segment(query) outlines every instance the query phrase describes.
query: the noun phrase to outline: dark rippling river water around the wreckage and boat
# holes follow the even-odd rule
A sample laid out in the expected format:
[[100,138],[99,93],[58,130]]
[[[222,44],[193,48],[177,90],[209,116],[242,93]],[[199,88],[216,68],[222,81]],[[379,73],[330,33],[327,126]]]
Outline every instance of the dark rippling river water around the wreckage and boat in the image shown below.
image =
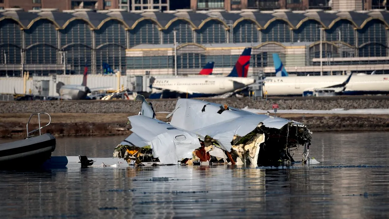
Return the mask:
[[[111,157],[124,137],[58,138],[53,155]],[[0,171],[0,218],[388,218],[388,141],[388,132],[317,132],[309,155],[321,163],[285,169]]]

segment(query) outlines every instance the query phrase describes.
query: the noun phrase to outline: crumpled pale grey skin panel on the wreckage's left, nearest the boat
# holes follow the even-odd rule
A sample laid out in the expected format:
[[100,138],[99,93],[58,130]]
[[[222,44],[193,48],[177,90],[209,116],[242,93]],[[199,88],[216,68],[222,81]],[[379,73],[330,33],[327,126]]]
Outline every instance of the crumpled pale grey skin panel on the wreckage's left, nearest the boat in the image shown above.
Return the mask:
[[177,164],[182,159],[192,158],[193,151],[201,147],[195,133],[173,127],[161,120],[144,115],[131,116],[128,120],[133,133],[119,145],[138,148],[149,146],[152,149],[152,156],[163,164]]

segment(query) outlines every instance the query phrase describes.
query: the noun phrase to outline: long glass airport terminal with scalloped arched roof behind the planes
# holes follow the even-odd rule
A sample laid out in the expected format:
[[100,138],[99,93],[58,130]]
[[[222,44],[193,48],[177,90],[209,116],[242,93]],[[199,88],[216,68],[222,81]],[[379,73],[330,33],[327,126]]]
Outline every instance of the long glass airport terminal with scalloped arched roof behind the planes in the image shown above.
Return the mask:
[[389,73],[383,9],[0,13],[0,76],[82,74],[86,65],[102,74],[104,63],[123,75],[187,75],[209,61],[226,75],[245,47],[252,47],[249,74],[274,75],[272,53],[289,73]]

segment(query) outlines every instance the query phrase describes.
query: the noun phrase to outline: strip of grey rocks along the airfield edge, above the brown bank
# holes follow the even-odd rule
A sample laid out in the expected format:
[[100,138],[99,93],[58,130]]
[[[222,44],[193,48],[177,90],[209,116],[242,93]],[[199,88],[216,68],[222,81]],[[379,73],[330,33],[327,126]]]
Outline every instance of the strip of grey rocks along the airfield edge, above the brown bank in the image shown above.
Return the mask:
[[[227,99],[205,99],[209,102],[228,104],[236,108],[248,106],[252,109],[272,109],[273,102],[279,105],[279,109],[307,109],[330,110],[344,109],[368,109],[389,108],[389,98],[307,98],[307,99],[268,99],[252,101],[248,97]],[[171,112],[175,108],[176,99],[150,100],[156,112]],[[0,113],[137,113],[140,109],[139,102],[135,101],[2,101]]]

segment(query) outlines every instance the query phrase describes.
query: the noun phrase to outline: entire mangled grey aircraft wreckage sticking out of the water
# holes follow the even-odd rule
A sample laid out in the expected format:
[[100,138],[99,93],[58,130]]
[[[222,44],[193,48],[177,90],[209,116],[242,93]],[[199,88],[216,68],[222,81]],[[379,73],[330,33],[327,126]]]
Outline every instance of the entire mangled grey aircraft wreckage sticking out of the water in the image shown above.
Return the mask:
[[128,117],[133,133],[114,150],[129,165],[260,166],[295,162],[291,148],[298,147],[304,147],[301,162],[309,161],[312,132],[300,122],[196,99],[179,99],[166,116],[171,121],[163,122],[142,95],[136,100],[142,105]]

